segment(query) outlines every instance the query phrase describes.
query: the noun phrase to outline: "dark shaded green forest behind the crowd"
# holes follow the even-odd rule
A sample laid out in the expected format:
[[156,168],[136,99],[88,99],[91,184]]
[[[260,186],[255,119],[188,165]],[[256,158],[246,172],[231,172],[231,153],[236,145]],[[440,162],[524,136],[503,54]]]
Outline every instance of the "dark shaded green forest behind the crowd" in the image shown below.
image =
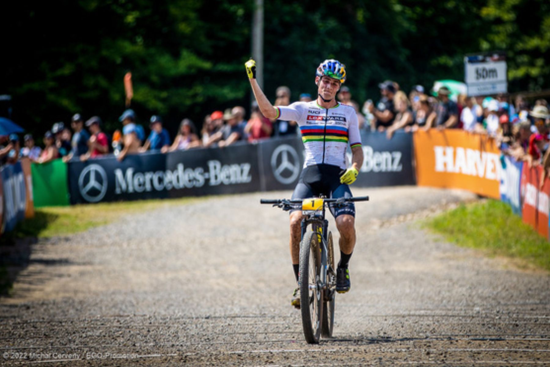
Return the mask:
[[[3,4],[0,95],[12,119],[43,134],[73,113],[120,128],[123,76],[131,107],[148,125],[160,114],[174,136],[215,109],[250,106],[244,62],[251,55],[254,1],[59,0]],[[464,79],[464,54],[506,51],[510,92],[548,87],[547,0],[373,0],[265,2],[264,86],[274,100],[315,94],[315,68],[346,64],[354,100],[379,97],[378,83],[431,87]],[[5,109],[5,106],[4,106]],[[249,112],[249,111],[247,111]]]

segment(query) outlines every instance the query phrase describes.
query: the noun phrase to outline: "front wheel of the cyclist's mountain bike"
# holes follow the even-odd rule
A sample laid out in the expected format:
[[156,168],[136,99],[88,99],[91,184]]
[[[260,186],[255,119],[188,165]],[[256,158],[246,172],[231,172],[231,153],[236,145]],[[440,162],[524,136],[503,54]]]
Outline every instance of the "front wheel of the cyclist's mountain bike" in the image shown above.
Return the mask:
[[319,234],[306,232],[300,244],[300,310],[306,341],[318,343],[321,336],[323,292],[320,287],[321,251]]

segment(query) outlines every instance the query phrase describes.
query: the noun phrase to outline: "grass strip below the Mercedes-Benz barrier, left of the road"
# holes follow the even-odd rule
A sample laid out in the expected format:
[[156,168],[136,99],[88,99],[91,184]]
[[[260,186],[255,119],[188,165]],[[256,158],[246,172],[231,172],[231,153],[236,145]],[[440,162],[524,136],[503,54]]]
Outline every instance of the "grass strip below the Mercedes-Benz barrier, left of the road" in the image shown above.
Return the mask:
[[68,235],[112,223],[130,213],[146,212],[162,206],[188,204],[204,198],[206,197],[43,207],[35,210],[34,218],[19,223],[12,233],[5,233],[3,237],[7,237],[9,241],[24,237]]

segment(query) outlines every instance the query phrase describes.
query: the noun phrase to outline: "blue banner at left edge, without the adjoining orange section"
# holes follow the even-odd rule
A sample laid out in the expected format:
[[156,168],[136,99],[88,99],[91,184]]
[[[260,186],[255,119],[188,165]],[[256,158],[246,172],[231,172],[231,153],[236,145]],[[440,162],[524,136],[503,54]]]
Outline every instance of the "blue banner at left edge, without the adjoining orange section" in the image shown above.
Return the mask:
[[0,169],[4,193],[4,232],[13,231],[17,223],[25,219],[26,185],[21,163],[6,165]]

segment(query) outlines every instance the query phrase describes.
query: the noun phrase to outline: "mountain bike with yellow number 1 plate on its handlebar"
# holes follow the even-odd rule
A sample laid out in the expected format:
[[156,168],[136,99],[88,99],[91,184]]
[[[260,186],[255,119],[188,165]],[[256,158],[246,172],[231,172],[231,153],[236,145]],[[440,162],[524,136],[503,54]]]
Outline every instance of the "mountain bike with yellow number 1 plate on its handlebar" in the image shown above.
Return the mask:
[[284,211],[301,210],[300,240],[300,310],[304,336],[310,344],[320,336],[330,338],[334,327],[336,267],[332,233],[328,231],[325,210],[344,206],[353,201],[367,201],[368,196],[356,198],[309,198],[300,200],[260,199],[260,204],[273,204]]

